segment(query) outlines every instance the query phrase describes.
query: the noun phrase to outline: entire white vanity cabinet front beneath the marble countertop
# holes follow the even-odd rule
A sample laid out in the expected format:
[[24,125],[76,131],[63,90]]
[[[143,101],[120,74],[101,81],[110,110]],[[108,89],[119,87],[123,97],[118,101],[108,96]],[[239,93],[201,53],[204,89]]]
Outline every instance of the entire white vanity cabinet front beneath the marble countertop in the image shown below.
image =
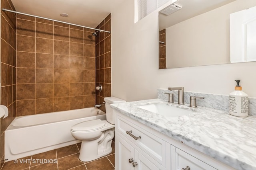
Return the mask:
[[122,113],[116,114],[115,170],[235,170]]

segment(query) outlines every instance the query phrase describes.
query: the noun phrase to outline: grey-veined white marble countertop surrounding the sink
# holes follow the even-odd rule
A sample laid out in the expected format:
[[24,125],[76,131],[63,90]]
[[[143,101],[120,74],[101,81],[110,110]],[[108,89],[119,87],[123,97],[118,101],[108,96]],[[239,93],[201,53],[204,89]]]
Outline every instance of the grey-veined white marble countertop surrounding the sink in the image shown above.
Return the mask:
[[[136,107],[155,102],[195,113],[164,117]],[[235,169],[256,169],[256,117],[235,117],[227,111],[200,106],[192,108],[160,99],[112,104],[111,107]]]

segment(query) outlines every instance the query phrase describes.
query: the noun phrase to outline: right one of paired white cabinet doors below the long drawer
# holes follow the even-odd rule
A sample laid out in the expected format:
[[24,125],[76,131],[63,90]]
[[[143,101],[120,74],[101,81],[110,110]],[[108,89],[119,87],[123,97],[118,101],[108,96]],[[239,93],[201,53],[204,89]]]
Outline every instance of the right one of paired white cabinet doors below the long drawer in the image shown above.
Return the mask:
[[150,160],[143,156],[140,152],[135,150],[135,170],[160,170]]

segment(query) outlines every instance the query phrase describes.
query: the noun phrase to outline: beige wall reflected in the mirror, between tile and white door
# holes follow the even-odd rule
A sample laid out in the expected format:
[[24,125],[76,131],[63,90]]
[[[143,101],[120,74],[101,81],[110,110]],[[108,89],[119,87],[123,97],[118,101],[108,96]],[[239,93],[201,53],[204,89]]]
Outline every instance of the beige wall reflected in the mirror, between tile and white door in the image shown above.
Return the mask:
[[227,6],[190,18],[166,29],[167,68],[230,62],[230,10],[224,8]]

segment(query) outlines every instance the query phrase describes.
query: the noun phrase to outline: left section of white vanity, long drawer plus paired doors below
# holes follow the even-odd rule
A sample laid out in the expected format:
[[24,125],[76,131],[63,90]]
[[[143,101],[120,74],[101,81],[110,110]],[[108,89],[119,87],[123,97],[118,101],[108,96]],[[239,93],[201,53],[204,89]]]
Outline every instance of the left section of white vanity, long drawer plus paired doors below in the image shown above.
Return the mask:
[[[137,140],[134,139],[136,137],[138,137]],[[117,115],[115,125],[116,170],[166,170],[164,167],[165,146],[166,142],[159,137],[135,125],[123,115]]]

